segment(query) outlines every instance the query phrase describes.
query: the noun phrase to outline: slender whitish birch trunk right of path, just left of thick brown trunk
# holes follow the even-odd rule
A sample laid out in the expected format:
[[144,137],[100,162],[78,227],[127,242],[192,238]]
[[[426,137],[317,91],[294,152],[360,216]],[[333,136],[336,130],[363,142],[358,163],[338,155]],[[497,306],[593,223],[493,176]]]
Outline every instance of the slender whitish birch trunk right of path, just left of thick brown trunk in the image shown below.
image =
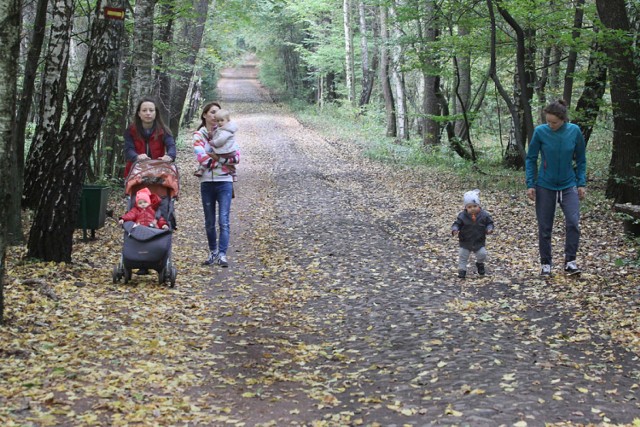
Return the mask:
[[397,22],[395,1],[389,6],[389,18],[393,22],[393,45],[391,47],[391,85],[394,91],[396,104],[396,127],[398,139],[409,139],[409,126],[407,119],[407,102],[404,92],[404,75],[402,67],[402,46],[399,43],[402,30]]

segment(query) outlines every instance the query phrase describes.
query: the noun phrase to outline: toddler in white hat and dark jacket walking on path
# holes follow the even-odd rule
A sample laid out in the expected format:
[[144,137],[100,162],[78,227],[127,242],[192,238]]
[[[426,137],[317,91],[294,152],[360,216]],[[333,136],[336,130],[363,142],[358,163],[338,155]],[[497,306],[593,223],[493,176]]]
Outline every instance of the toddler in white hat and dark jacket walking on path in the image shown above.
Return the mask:
[[467,277],[467,263],[469,255],[473,252],[476,256],[478,274],[486,273],[484,262],[487,259],[485,248],[487,234],[493,233],[493,219],[491,215],[480,206],[480,190],[471,190],[464,193],[464,210],[451,226],[451,235],[458,235],[460,250],[458,252],[458,277]]

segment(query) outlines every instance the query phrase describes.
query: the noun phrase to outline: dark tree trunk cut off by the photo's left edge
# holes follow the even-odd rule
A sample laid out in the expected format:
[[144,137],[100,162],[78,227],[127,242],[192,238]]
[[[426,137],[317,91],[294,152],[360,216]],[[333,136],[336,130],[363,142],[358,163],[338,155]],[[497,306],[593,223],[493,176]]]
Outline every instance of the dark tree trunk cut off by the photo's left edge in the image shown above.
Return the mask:
[[[0,324],[4,323],[4,276],[10,210],[20,199],[14,191],[16,147],[12,137],[20,56],[20,0],[0,0]],[[14,165],[14,166],[12,166]]]

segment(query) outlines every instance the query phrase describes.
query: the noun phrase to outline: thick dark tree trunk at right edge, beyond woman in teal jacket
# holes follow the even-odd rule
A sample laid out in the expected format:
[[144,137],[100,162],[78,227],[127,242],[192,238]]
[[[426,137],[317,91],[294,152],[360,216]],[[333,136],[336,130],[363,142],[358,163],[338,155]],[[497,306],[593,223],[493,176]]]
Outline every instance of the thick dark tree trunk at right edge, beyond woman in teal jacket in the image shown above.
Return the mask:
[[609,163],[606,196],[615,203],[640,204],[640,121],[637,120],[638,66],[629,54],[629,18],[624,0],[596,0],[602,23],[616,34],[609,36],[606,48],[610,66],[613,106],[613,151]]

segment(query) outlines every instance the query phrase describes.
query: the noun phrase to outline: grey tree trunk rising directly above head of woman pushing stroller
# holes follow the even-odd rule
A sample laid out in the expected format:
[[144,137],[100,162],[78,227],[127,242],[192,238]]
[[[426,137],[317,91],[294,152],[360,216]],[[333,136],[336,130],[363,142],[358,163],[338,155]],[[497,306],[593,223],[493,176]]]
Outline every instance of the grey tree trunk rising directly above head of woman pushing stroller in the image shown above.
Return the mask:
[[155,0],[137,0],[133,28],[130,115],[140,99],[153,94],[153,15]]

